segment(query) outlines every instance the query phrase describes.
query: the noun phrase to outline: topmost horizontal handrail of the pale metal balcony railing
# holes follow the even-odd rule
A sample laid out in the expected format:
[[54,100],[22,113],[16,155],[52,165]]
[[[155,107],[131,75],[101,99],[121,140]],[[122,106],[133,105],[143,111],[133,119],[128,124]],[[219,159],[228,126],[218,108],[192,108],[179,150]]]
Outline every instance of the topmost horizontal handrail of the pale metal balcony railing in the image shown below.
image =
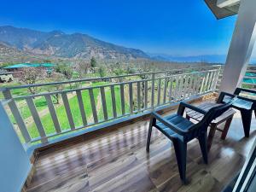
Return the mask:
[[99,78],[73,79],[73,80],[60,81],[60,82],[50,82],[50,83],[44,83],[44,84],[23,84],[23,85],[17,85],[17,86],[1,87],[0,91],[25,89],[25,88],[29,88],[29,87],[49,86],[49,85],[56,85],[56,84],[73,84],[73,83],[104,80],[104,79],[120,79],[120,78],[125,78],[125,77],[139,76],[139,75],[146,75],[146,74],[170,73],[170,72],[173,73],[173,72],[180,72],[180,71],[183,71],[183,70],[193,70],[193,69],[201,69],[201,68],[207,68],[207,67],[209,67],[209,68],[221,67],[221,65],[212,65],[212,66],[205,66],[205,67],[190,67],[190,68],[187,67],[187,68],[181,68],[181,69],[172,69],[172,70],[148,72],[148,73],[134,73],[134,74],[130,73],[130,74],[119,75],[119,76],[108,76],[108,77],[99,77]]

